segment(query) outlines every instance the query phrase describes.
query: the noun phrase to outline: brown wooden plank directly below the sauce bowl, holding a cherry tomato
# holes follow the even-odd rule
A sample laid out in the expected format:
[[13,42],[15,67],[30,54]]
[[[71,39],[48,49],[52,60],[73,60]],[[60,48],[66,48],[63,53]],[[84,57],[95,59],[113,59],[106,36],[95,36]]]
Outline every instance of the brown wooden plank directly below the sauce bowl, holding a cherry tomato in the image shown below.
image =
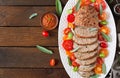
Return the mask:
[[42,36],[42,27],[0,27],[0,46],[58,46],[57,28],[48,38]]

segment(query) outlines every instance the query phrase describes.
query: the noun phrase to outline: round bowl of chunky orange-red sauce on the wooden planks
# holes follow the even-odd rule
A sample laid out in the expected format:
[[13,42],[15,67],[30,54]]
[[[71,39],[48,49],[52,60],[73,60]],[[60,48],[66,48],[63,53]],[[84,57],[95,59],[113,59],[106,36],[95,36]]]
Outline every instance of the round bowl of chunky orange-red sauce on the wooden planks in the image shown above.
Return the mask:
[[58,25],[58,17],[52,12],[47,12],[41,17],[40,23],[44,29],[53,30]]

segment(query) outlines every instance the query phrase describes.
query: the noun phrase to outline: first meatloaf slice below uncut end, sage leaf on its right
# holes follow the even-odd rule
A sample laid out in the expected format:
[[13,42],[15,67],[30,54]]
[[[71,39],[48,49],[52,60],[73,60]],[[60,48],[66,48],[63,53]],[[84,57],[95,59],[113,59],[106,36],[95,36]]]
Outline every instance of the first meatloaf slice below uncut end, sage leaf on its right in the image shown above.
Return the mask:
[[[93,30],[94,29],[94,30]],[[74,29],[75,35],[81,38],[91,38],[98,35],[98,28],[80,26]]]

